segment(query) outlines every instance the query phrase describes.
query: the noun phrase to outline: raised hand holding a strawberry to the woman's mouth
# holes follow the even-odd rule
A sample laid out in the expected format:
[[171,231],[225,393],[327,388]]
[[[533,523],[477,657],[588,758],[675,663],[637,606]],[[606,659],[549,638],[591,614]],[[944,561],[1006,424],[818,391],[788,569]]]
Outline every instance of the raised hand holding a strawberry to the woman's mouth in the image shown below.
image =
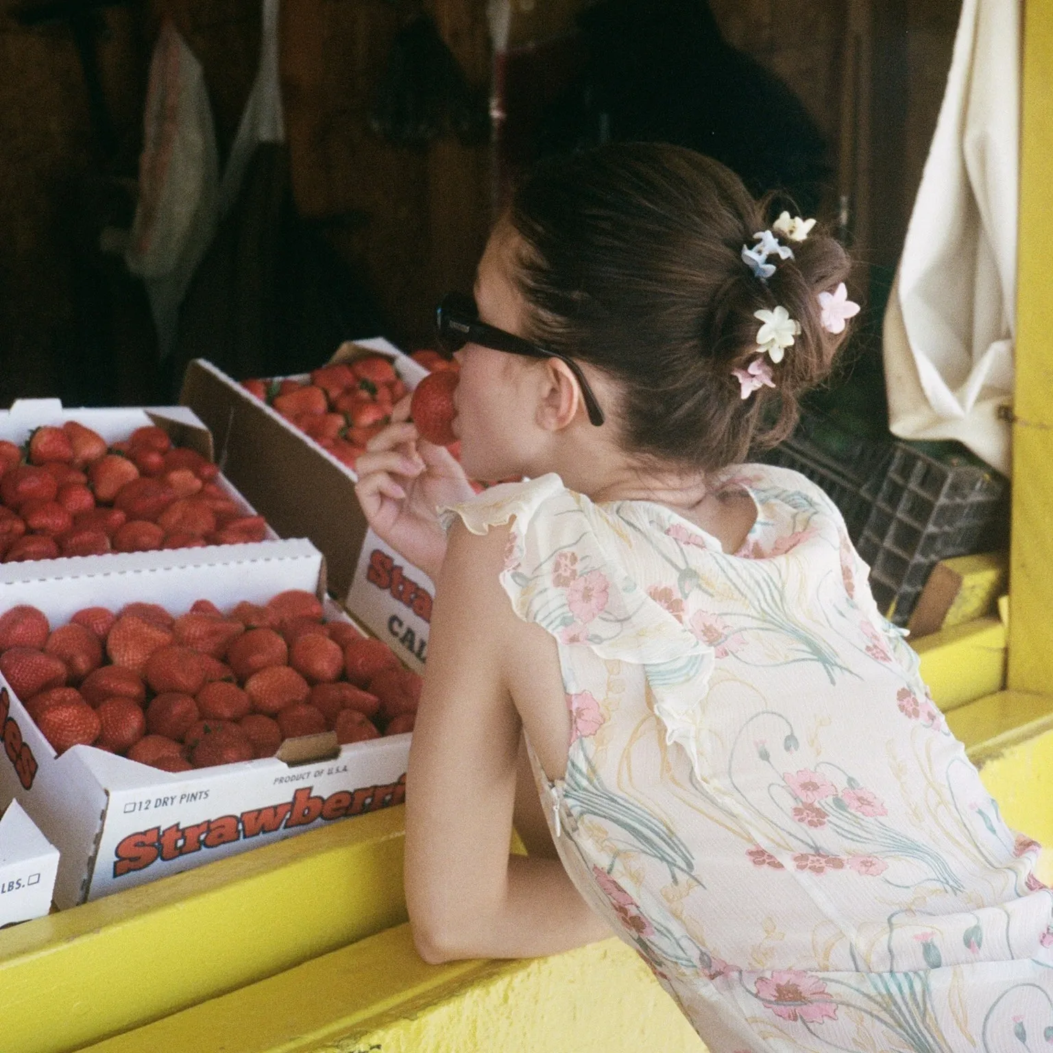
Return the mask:
[[408,396],[358,458],[355,493],[373,530],[435,580],[446,554],[436,509],[466,501],[475,491],[444,446],[420,438],[409,414]]

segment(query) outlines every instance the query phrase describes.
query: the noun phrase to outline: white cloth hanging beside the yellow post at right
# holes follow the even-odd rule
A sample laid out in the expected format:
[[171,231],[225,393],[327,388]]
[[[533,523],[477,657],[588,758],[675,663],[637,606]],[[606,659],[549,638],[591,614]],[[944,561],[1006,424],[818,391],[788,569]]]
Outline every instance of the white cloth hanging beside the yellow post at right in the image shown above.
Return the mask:
[[889,421],[1006,475],[1013,395],[1020,0],[963,0],[951,72],[885,313]]

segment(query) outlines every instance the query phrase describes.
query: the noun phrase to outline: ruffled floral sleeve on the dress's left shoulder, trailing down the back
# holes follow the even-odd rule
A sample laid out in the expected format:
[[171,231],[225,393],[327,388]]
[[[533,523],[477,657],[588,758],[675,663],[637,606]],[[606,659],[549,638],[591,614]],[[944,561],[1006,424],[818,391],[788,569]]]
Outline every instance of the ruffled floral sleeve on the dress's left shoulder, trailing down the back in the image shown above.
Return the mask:
[[679,742],[699,774],[701,702],[715,658],[663,591],[643,584],[659,579],[668,539],[633,531],[555,474],[440,510],[448,530],[457,518],[473,534],[514,520],[500,581],[517,616],[549,632],[561,652],[588,648],[641,665],[667,742]]

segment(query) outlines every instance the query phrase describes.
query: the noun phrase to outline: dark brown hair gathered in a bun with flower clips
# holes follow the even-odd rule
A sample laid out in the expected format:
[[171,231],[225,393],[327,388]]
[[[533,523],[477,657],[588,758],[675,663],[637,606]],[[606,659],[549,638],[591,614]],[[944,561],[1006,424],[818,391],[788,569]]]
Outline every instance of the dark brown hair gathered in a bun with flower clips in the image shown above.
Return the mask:
[[[621,381],[625,449],[706,471],[743,460],[793,430],[798,398],[829,373],[843,334],[822,327],[817,297],[848,277],[848,255],[818,226],[780,237],[794,259],[771,257],[761,281],[741,251],[771,204],[719,162],[658,143],[551,159],[517,188],[523,335]],[[732,370],[759,354],[754,312],[777,304],[801,332],[769,363],[775,389],[742,399]]]

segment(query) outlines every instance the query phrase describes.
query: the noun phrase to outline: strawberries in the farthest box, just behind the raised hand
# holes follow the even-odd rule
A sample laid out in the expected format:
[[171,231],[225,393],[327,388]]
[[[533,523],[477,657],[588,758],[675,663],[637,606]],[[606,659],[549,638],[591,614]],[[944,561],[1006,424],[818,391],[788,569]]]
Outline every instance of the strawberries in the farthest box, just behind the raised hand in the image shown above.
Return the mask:
[[[434,372],[456,372],[434,351],[415,351],[415,358]],[[323,365],[299,380],[244,380],[242,386],[266,402],[292,424],[355,468],[365,444],[391,421],[392,409],[406,394],[391,359],[363,355],[351,362]]]

